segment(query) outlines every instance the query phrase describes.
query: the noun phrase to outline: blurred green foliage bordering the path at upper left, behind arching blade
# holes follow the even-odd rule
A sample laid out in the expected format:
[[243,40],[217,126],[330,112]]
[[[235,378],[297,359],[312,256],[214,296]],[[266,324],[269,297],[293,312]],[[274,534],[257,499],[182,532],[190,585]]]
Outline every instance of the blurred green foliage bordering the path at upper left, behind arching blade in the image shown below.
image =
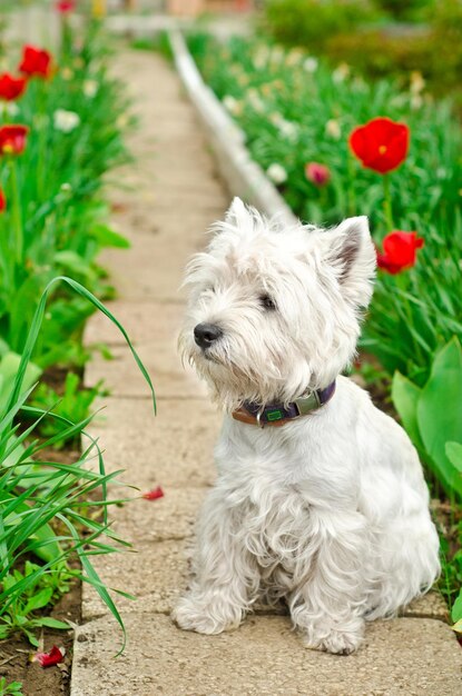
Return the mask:
[[[30,130],[26,150],[0,158],[0,338],[18,352],[38,298],[56,275],[69,274],[100,297],[110,297],[97,255],[128,242],[106,226],[102,177],[127,161],[121,139],[126,102],[106,70],[107,51],[90,27],[79,49],[56,56],[56,74],[33,78],[9,112]],[[12,69],[18,54],[9,54]],[[76,125],[63,130],[62,112]],[[110,115],[110,117],[109,117]],[[41,367],[82,365],[81,331],[92,308],[65,289],[51,298],[35,361]],[[1,351],[1,348],[0,348]],[[1,352],[0,352],[1,355]]]

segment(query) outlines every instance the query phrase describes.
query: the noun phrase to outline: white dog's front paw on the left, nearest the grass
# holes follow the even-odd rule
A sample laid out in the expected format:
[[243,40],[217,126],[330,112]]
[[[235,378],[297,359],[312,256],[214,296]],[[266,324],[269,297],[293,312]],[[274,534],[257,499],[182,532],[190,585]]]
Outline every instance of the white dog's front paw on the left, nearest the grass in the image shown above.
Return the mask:
[[216,635],[224,630],[233,630],[240,624],[242,610],[226,606],[216,598],[187,595],[181,597],[171,613],[173,620],[184,630],[196,630],[207,635]]

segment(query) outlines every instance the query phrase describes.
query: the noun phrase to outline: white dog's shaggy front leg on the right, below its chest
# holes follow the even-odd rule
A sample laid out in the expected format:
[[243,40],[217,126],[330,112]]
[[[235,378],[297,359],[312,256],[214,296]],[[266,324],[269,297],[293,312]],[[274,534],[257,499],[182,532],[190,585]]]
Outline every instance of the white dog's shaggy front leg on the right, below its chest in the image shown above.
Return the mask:
[[346,655],[364,636],[365,520],[355,511],[312,509],[311,525],[315,544],[289,596],[292,619],[307,647]]

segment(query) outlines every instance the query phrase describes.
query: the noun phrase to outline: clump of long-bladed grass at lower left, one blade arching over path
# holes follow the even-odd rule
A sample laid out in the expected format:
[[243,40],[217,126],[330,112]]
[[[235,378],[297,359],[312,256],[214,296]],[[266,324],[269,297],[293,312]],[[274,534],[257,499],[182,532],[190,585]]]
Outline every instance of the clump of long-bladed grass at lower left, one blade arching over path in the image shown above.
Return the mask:
[[[38,617],[36,613],[51,605],[73,577],[95,587],[125,637],[124,623],[114,599],[91,563],[95,554],[114,553],[128,546],[111,531],[107,515],[108,505],[120,503],[109,503],[106,497],[108,483],[115,483],[120,471],[106,473],[102,453],[91,437],[73,464],[38,461],[40,451],[62,438],[80,435],[88,438],[86,428],[91,416],[72,422],[53,411],[26,406],[35,379],[28,372],[30,358],[43,321],[47,296],[58,282],[67,284],[117,326],[154,399],[149,375],[116,317],[80,284],[70,278],[55,278],[40,298],[18,370],[4,399],[6,407],[0,414],[0,638],[19,630],[35,645],[38,644],[37,632],[43,626],[68,627],[48,616]],[[22,431],[18,429],[21,415],[35,419]],[[59,420],[66,427],[46,440],[35,438],[37,426],[47,419]],[[98,494],[97,500],[95,493]],[[101,510],[100,519],[95,516],[95,508]],[[40,558],[42,564],[28,563],[30,555]],[[69,570],[67,563],[71,557],[78,557],[81,571]],[[20,570],[23,560],[26,565]]]

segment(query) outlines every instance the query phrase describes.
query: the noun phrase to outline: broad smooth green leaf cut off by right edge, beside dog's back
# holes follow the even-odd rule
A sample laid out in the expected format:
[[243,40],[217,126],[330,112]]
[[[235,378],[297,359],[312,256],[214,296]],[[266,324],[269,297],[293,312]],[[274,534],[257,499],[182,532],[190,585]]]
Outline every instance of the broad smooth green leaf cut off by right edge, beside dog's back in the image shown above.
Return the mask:
[[455,337],[434,358],[417,402],[417,424],[441,483],[462,498],[462,476],[446,455],[446,443],[462,432],[462,349]]

